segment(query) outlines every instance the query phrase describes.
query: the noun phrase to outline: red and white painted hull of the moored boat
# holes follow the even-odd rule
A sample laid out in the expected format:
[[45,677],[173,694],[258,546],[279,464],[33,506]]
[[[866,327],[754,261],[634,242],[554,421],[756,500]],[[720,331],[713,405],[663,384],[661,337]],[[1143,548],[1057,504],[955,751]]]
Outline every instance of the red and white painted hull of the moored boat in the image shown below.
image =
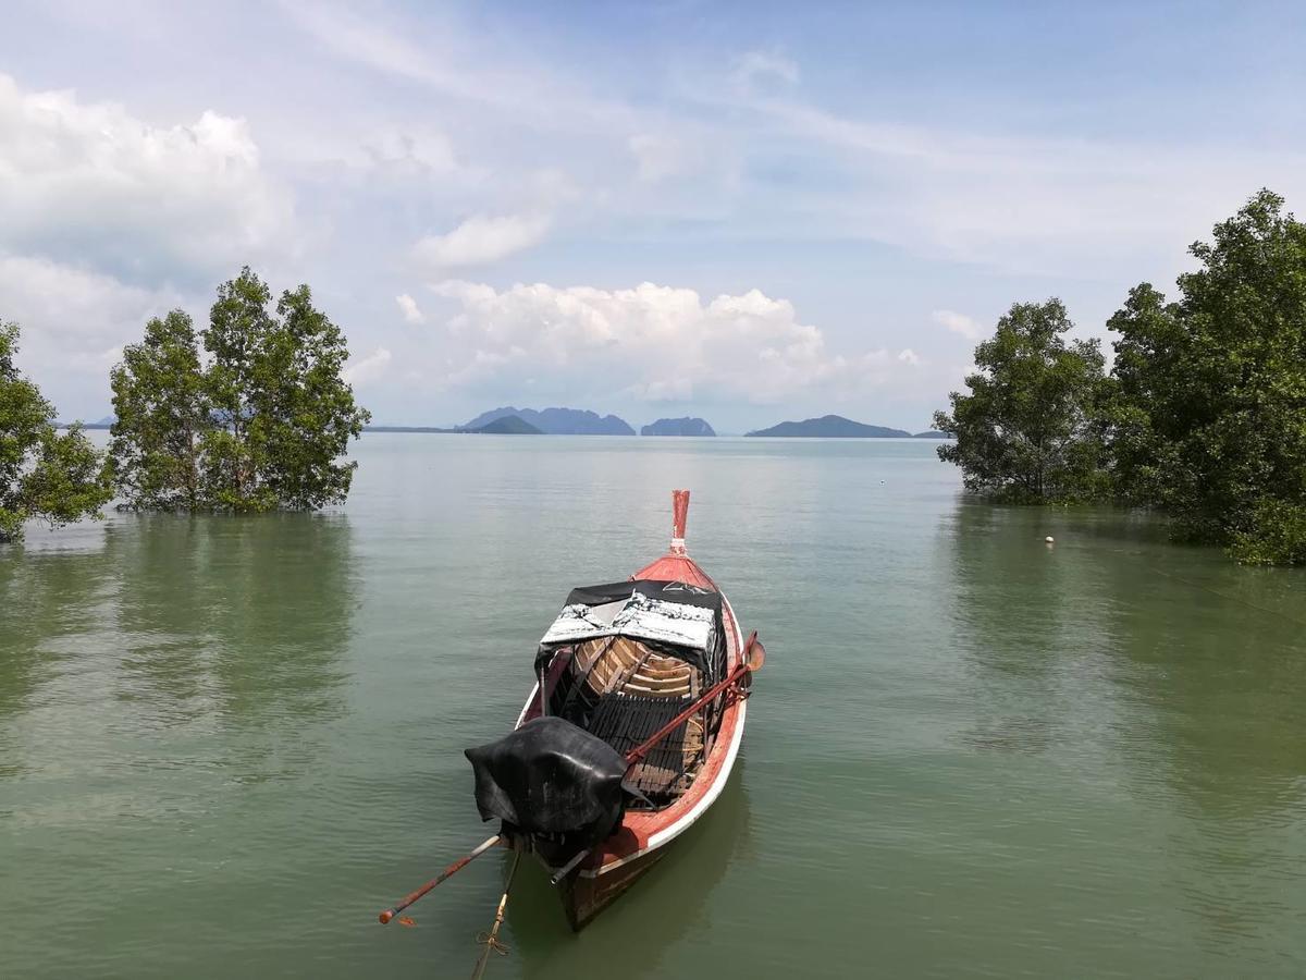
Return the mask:
[[[683,528],[683,523],[680,524]],[[683,536],[683,531],[682,531]],[[674,546],[673,546],[674,547]],[[720,592],[716,583],[688,555],[673,550],[641,568],[632,579],[684,581]],[[722,619],[726,631],[726,670],[733,670],[743,656],[743,636],[730,602],[722,596]],[[562,669],[562,666],[559,668]],[[549,682],[556,676],[550,674]],[[538,686],[532,691],[517,724],[539,715]],[[616,831],[596,847],[573,872],[563,887],[567,920],[572,929],[581,929],[614,899],[635,883],[666,853],[666,847],[707,813],[730,777],[739,743],[743,738],[746,700],[734,699],[722,715],[721,728],[708,750],[703,770],[690,789],[671,806],[657,811],[627,813]]]

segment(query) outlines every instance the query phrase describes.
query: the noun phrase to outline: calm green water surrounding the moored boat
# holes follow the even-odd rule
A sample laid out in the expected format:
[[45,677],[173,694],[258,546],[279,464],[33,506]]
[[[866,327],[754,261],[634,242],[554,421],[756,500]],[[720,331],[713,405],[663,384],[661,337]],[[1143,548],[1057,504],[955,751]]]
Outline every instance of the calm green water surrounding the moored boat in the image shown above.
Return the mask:
[[[491,977],[1302,976],[1306,575],[965,502],[913,442],[371,435],[316,516],[0,550],[0,972],[460,976],[461,749],[572,584],[690,547],[767,640],[709,817]],[[1045,534],[1057,544],[1047,547]]]

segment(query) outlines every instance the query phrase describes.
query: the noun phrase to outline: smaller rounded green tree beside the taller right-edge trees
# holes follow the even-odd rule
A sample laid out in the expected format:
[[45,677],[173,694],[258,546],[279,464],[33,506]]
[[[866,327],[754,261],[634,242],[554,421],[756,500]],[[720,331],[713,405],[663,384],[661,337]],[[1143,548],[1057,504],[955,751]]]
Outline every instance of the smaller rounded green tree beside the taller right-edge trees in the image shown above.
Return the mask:
[[939,459],[961,466],[968,490],[1000,500],[1083,500],[1106,483],[1094,406],[1104,389],[1096,340],[1071,341],[1059,299],[1016,303],[993,340],[976,348],[969,395],[934,426],[956,439]]

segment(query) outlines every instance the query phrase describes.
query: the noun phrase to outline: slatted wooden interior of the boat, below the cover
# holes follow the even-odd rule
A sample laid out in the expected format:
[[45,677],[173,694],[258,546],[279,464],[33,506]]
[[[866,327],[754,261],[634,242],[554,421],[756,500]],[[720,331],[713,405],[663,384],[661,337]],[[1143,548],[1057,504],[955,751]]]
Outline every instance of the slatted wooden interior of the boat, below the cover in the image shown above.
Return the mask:
[[[701,653],[628,636],[580,640],[556,648],[554,657],[559,656],[564,668],[549,694],[549,713],[580,725],[623,755],[707,687]],[[627,784],[644,796],[631,809],[662,809],[684,794],[703,768],[721,710],[718,700],[690,716],[631,770]]]

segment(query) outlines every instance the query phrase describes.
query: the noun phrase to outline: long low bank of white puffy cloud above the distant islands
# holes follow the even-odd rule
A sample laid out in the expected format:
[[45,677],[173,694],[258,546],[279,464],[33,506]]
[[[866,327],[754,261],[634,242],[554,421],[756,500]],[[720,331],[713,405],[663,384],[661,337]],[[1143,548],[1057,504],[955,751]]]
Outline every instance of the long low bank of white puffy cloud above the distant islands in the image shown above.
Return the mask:
[[457,350],[444,378],[451,387],[774,402],[818,389],[857,395],[902,370],[883,349],[828,350],[789,301],[759,290],[710,301],[650,282],[496,290],[445,281],[432,290],[456,304],[447,323]]

